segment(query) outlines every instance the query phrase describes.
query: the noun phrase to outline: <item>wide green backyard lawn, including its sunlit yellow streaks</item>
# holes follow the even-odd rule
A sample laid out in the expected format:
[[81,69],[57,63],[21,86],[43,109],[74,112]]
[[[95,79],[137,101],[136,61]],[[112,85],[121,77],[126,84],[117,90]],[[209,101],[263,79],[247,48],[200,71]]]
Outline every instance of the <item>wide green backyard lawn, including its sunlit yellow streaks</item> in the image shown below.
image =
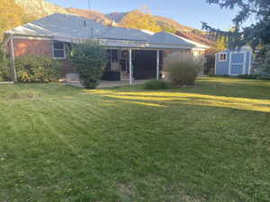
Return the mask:
[[270,82],[0,85],[0,201],[270,201]]

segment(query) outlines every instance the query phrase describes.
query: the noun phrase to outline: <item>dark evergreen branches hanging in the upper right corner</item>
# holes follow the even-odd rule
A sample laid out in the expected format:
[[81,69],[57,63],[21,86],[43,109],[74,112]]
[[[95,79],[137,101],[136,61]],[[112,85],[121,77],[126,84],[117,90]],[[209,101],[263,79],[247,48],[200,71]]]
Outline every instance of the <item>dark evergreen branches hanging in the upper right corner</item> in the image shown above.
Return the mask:
[[[202,22],[202,28],[215,32],[217,35],[228,37],[231,46],[243,46],[247,43],[253,48],[270,44],[270,1],[269,0],[207,0],[209,4],[219,4],[221,8],[239,8],[234,18],[234,31],[220,31],[211,28],[206,22]],[[257,17],[257,22],[243,27],[244,22],[252,16]]]

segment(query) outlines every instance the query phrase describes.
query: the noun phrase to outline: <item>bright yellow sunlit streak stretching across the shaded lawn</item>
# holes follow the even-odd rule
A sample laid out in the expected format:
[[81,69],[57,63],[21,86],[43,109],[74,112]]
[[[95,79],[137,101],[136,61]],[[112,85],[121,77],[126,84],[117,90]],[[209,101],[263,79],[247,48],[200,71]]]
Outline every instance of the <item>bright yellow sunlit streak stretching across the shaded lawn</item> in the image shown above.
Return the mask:
[[237,98],[186,92],[117,92],[113,90],[93,90],[86,93],[104,98],[116,99],[130,104],[150,107],[169,107],[176,104],[254,110],[270,112],[269,100]]

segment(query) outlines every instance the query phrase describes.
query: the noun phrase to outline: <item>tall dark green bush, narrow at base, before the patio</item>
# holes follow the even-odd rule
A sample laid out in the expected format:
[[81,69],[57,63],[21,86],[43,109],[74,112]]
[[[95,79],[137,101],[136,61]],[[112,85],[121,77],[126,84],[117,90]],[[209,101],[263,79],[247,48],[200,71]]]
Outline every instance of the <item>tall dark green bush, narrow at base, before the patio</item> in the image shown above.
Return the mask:
[[69,60],[77,67],[80,81],[85,88],[94,89],[103,76],[108,56],[106,50],[97,42],[87,41],[73,45]]

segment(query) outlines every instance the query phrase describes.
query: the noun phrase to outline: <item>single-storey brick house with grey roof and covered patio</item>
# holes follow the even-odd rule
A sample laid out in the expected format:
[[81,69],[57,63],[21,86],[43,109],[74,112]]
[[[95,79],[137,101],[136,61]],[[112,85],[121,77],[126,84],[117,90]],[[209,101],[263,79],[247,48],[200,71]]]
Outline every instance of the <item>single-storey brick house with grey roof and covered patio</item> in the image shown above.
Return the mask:
[[[109,64],[105,80],[159,78],[164,59],[191,52],[194,57],[209,48],[165,31],[150,31],[105,26],[83,17],[52,14],[35,22],[6,31],[4,45],[14,61],[26,55],[53,57],[63,61],[63,78],[76,80],[76,68],[67,61],[73,43],[97,40],[107,49]],[[15,67],[14,67],[15,69]],[[14,79],[15,79],[14,70]]]

